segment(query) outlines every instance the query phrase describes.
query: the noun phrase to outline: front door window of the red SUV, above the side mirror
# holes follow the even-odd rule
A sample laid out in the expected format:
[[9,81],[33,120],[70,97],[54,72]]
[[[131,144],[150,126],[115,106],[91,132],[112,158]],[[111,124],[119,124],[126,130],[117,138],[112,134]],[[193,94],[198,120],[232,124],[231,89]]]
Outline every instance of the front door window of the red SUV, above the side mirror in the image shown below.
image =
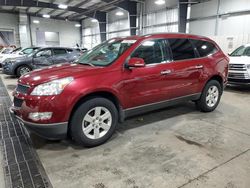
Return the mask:
[[146,64],[166,61],[164,40],[145,41],[131,55],[144,59]]

